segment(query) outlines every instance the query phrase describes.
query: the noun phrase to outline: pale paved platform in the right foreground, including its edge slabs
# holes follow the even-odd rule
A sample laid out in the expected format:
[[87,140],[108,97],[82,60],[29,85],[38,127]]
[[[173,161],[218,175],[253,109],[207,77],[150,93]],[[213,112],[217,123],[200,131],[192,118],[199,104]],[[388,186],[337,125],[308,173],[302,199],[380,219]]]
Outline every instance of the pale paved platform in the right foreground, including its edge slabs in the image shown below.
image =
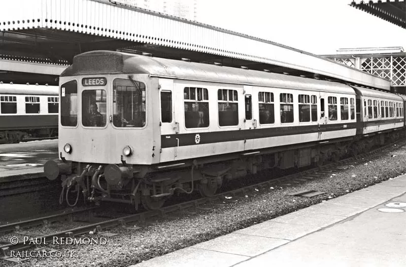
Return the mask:
[[131,267],[406,266],[406,175]]

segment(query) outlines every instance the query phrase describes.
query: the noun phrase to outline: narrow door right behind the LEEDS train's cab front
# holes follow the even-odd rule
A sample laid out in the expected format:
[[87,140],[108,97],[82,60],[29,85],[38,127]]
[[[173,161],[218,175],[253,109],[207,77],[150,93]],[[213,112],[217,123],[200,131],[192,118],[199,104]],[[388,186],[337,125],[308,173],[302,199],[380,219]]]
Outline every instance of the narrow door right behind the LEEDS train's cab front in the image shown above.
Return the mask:
[[[172,80],[159,80],[159,102],[160,102],[160,126],[161,126],[161,162],[173,161],[176,158],[178,147],[176,146],[176,134],[179,132],[179,124],[175,120],[173,92],[174,83]],[[177,128],[178,127],[178,128]],[[178,129],[178,130],[177,130]]]

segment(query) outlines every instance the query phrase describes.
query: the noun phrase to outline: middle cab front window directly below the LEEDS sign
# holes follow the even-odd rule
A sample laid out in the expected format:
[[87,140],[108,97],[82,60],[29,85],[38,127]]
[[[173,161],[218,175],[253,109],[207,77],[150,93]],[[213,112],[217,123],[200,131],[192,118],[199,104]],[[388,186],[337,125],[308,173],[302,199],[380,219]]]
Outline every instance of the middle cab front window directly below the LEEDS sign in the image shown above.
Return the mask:
[[82,125],[106,126],[106,91],[84,90],[82,92]]

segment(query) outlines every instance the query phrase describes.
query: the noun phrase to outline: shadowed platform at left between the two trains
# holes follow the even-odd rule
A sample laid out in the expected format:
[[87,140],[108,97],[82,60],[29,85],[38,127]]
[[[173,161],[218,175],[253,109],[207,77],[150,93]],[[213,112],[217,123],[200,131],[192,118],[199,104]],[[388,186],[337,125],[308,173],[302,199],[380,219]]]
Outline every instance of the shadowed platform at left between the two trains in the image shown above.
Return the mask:
[[44,177],[44,164],[58,159],[58,140],[0,144],[0,183]]

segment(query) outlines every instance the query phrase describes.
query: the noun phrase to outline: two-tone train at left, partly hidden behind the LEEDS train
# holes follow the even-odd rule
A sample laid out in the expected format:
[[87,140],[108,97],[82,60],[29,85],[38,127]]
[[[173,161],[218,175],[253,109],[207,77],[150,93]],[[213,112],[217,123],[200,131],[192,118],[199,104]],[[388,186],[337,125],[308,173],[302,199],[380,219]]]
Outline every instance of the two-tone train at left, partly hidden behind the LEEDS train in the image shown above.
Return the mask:
[[0,83],[0,143],[58,135],[57,86]]

